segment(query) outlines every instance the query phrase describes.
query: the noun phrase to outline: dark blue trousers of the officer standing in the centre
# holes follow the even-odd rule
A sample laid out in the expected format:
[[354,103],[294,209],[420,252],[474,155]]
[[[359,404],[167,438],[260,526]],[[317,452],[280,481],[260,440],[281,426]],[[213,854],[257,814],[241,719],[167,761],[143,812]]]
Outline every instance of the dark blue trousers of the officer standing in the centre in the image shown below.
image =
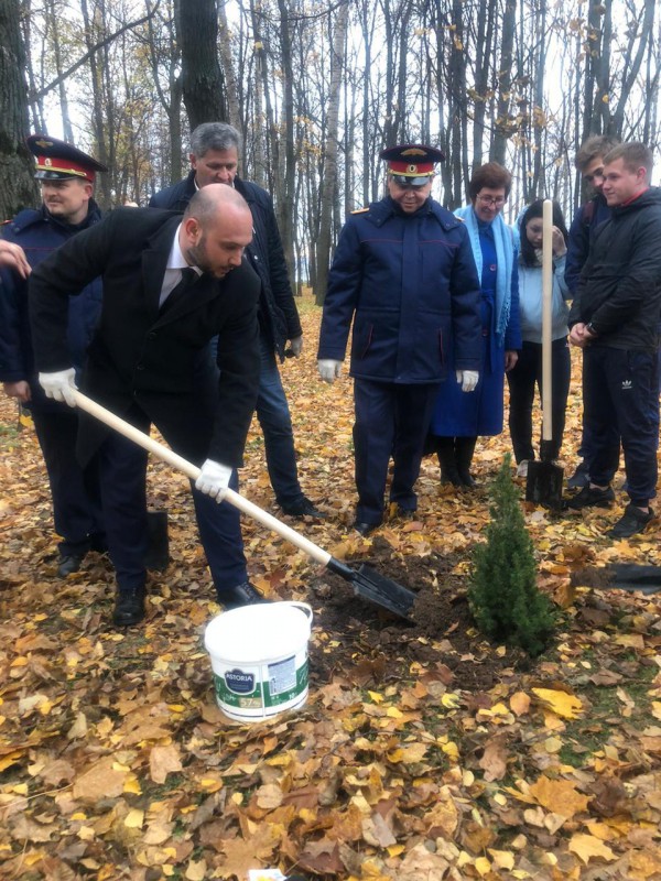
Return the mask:
[[413,486],[438,394],[437,383],[421,385],[354,381],[354,456],[358,505],[356,520],[381,523],[390,457],[394,461],[390,501],[415,511]]

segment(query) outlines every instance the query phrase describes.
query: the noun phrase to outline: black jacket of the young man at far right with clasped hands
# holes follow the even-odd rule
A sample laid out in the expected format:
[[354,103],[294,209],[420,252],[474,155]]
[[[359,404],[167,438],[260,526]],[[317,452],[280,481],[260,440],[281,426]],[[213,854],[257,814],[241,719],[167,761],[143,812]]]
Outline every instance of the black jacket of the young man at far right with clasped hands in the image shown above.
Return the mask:
[[594,235],[568,325],[592,322],[590,346],[657,351],[661,319],[661,189],[611,209]]

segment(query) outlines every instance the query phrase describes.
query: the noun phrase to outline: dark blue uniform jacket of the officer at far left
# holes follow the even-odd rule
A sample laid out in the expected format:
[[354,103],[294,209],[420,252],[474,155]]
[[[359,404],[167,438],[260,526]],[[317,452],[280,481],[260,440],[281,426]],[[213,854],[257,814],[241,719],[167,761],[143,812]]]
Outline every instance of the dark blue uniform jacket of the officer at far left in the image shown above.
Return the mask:
[[[63,224],[42,205],[18,214],[2,228],[2,238],[20,244],[34,269],[56,248],[83,229],[101,219],[94,200],[89,202],[87,218],[77,226]],[[76,292],[77,293],[77,292]],[[101,314],[101,281],[95,279],[80,296],[69,297],[68,347],[72,362],[80,371],[85,352]],[[0,270],[0,382],[25,380],[32,390],[31,406],[58,410],[62,404],[50,401],[37,382],[32,351],[32,335],[28,315],[28,281],[9,269]]]

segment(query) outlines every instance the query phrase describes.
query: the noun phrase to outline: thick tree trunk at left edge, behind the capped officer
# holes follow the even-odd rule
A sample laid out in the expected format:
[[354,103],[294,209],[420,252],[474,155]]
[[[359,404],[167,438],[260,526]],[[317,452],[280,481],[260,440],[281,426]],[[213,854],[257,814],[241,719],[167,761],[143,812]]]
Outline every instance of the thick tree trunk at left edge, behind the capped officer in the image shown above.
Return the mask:
[[39,203],[34,162],[25,146],[30,133],[21,3],[0,4],[0,220]]

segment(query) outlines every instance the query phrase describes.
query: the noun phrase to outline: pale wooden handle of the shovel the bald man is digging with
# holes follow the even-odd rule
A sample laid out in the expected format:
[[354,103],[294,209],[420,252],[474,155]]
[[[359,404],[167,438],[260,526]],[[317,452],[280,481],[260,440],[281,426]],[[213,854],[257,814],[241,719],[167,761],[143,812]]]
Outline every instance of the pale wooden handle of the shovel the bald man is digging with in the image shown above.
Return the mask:
[[[128,422],[120,418],[111,411],[106,410],[105,406],[97,404],[96,401],[93,401],[91,398],[87,398],[87,395],[83,394],[78,390],[74,392],[74,396],[76,399],[76,404],[80,407],[80,410],[89,413],[91,416],[105,423],[110,428],[113,428],[116,432],[119,432],[119,434],[123,435],[124,437],[128,437],[129,440],[133,440],[136,444],[138,444],[138,446],[147,449],[148,453],[152,453],[156,458],[167,463],[167,465],[172,465],[173,468],[182,471],[182,474],[186,475],[186,477],[189,477],[191,480],[196,480],[199,477],[199,468],[184,459],[183,456],[174,453],[172,449],[170,449],[170,447],[166,447],[163,444],[160,444],[158,440],[154,440],[153,437],[150,437],[144,432],[136,428],[134,425],[130,425]],[[273,530],[273,532],[278,533],[278,535],[280,535],[282,539],[291,542],[301,551],[308,554],[308,556],[311,556],[317,563],[321,563],[323,566],[326,566],[328,561],[332,558],[327,551],[324,551],[308,539],[305,539],[305,536],[301,535],[295,530],[292,530],[285,523],[281,523],[280,520],[274,518],[272,514],[269,514],[267,511],[262,511],[262,509],[258,508],[257,504],[248,501],[248,499],[243,498],[243,496],[239,496],[239,493],[235,492],[232,489],[227,490],[224,501],[229,502],[235,508],[238,508],[239,511],[242,511],[245,514],[253,518],[258,521],[258,523],[261,523],[262,526]]]

